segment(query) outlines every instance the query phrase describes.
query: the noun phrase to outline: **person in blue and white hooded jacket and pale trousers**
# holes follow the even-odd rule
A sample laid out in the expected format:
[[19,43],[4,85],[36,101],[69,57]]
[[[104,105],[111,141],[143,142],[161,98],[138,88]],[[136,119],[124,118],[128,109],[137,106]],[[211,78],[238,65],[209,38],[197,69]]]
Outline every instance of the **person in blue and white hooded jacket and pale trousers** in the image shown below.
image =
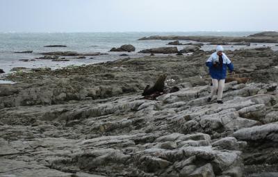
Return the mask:
[[231,60],[223,53],[223,47],[217,46],[216,52],[211,54],[211,56],[206,60],[206,66],[209,68],[209,74],[211,74],[213,87],[211,89],[211,95],[208,96],[208,102],[213,99],[213,95],[217,93],[217,103],[223,103],[222,94],[224,90],[224,83],[227,73],[227,67],[230,73],[234,73],[234,65]]

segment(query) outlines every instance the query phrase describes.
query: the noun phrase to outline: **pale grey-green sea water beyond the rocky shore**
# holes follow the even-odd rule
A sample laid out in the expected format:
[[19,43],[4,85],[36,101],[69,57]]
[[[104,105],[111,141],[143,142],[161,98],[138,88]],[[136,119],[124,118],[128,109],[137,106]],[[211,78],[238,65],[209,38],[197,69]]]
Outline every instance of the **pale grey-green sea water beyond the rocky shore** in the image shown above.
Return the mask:
[[[257,31],[250,32],[129,32],[129,33],[0,33],[0,69],[6,73],[13,67],[51,67],[57,69],[68,65],[88,65],[97,62],[106,62],[123,58],[119,52],[108,52],[113,47],[122,44],[132,44],[136,47],[135,52],[127,53],[130,57],[138,57],[137,53],[142,49],[153,47],[169,47],[169,41],[163,40],[138,40],[140,37],[149,35],[225,35],[246,36]],[[181,41],[183,43],[189,41]],[[46,45],[60,44],[67,47],[49,48]],[[182,49],[184,46],[178,46]],[[204,46],[205,50],[214,47]],[[237,49],[237,48],[234,48]],[[15,53],[15,51],[33,51],[33,53]],[[34,59],[41,55],[38,53],[47,51],[76,51],[80,53],[101,52],[108,53],[104,56],[93,56],[85,59],[72,59],[64,62],[51,60],[20,61],[22,59]]]

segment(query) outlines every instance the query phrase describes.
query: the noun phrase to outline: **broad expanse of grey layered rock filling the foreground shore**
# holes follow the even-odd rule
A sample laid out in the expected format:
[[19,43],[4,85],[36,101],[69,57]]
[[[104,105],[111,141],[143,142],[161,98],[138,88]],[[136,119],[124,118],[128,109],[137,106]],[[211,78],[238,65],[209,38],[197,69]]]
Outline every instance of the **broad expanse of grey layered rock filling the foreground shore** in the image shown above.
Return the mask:
[[[0,176],[278,176],[278,52],[225,51],[248,82],[222,105],[206,102],[213,51],[188,52],[9,74]],[[161,74],[179,91],[142,99]]]

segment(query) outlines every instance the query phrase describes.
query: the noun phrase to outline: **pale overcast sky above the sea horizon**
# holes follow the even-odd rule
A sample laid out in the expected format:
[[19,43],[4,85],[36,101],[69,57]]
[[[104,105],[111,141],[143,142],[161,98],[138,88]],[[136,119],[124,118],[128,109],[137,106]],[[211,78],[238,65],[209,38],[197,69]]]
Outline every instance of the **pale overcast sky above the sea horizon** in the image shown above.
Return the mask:
[[0,0],[0,32],[278,31],[277,0]]

